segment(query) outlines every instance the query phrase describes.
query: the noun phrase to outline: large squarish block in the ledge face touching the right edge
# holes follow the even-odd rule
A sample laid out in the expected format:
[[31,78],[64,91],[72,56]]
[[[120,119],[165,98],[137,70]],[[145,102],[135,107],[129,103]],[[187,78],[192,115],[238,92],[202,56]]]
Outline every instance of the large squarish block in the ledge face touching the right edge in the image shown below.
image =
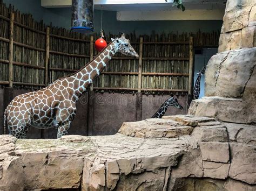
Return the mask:
[[230,143],[230,178],[249,184],[256,183],[256,147],[240,143]]

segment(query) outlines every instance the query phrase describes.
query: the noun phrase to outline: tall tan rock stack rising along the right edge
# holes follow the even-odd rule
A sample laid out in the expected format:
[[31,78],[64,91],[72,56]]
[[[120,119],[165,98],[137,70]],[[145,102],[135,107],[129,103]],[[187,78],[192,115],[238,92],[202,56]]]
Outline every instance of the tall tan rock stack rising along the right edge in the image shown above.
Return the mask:
[[205,71],[205,96],[188,114],[232,123],[256,123],[256,4],[227,1],[218,54]]

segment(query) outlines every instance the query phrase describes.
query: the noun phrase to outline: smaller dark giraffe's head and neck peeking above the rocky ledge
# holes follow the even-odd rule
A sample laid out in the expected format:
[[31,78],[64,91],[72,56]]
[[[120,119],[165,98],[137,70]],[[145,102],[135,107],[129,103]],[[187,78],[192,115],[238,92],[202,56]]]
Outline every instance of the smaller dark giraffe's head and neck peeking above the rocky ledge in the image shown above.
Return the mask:
[[183,110],[183,107],[182,107],[182,105],[179,104],[177,98],[174,98],[172,96],[172,97],[168,98],[167,100],[165,100],[165,102],[161,105],[161,107],[156,112],[156,114],[154,114],[151,118],[162,118],[169,106]]

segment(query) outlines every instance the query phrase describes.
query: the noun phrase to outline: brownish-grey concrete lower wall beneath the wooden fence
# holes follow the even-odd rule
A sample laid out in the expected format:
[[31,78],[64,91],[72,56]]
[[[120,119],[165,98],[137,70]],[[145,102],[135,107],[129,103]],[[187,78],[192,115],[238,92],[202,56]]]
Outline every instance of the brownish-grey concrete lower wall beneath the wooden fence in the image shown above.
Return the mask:
[[[0,88],[0,134],[3,134],[3,112],[8,98],[6,90]],[[28,90],[14,90],[13,96]],[[69,135],[113,135],[117,133],[123,122],[139,121],[151,116],[169,95],[142,95],[142,105],[138,107],[136,94],[85,93],[77,102],[77,115],[71,123]],[[178,96],[179,103],[186,108],[186,96]],[[138,113],[140,116],[138,117]],[[186,114],[187,110],[169,108],[166,115]],[[40,130],[30,128],[27,138],[56,138],[57,129]]]

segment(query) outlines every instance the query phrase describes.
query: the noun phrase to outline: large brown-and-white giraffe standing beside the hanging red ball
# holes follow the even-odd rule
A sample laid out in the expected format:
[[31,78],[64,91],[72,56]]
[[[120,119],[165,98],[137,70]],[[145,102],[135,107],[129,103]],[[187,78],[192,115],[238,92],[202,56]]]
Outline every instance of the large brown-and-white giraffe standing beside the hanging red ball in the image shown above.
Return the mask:
[[60,78],[49,86],[14,98],[4,112],[4,128],[9,134],[25,138],[30,127],[56,128],[57,138],[68,134],[70,123],[76,115],[76,102],[92,82],[100,75],[117,52],[138,58],[130,40],[124,34],[112,39],[92,61],[78,72]]

